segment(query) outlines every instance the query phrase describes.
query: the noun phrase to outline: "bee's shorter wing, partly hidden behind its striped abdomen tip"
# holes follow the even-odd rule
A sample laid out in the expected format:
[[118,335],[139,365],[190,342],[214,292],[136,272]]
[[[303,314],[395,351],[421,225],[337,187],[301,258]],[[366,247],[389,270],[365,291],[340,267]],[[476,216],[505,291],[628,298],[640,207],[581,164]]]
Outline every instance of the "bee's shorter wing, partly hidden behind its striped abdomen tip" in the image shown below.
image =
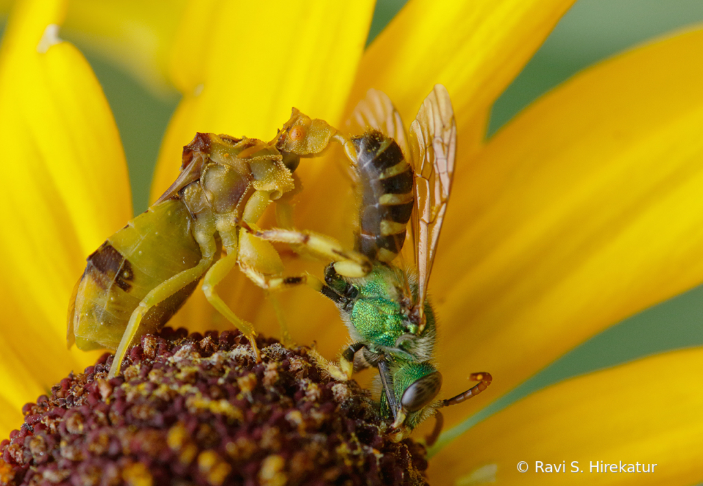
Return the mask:
[[347,121],[349,133],[360,135],[369,128],[380,130],[398,143],[403,155],[408,157],[408,139],[400,113],[383,91],[369,89],[366,98],[359,101]]

